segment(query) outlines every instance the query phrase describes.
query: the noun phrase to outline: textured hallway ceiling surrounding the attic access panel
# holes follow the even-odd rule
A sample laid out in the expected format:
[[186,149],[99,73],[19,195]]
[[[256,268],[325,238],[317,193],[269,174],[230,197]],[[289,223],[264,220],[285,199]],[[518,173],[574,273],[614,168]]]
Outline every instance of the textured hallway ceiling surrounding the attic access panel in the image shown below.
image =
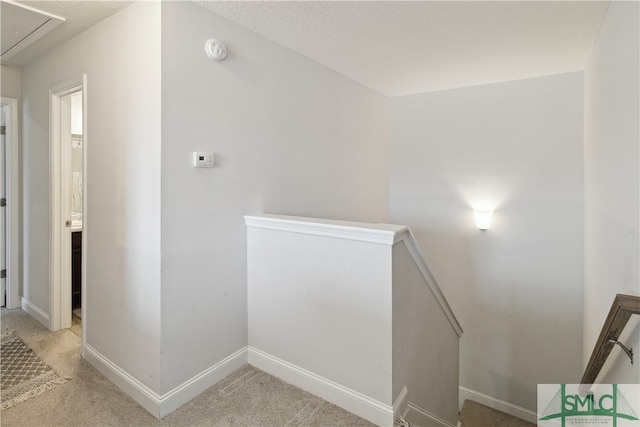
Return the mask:
[[[44,37],[34,42],[22,52],[16,54],[8,60],[3,60],[3,65],[12,65],[20,67],[37,59],[38,57],[49,52],[56,46],[64,43],[72,37],[80,34],[86,29],[92,27],[105,18],[129,6],[131,1],[15,1],[14,3],[22,3],[29,7],[48,12],[62,18],[66,21],[51,30]],[[2,2],[0,8],[2,7]],[[1,9],[0,9],[1,11]],[[2,37],[5,28],[2,28]]]

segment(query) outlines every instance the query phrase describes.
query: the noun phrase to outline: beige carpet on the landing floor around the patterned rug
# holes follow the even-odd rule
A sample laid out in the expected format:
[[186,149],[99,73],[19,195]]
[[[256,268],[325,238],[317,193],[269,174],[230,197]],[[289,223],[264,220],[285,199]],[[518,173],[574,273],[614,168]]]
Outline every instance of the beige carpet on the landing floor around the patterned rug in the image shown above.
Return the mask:
[[371,426],[316,396],[245,366],[157,420],[80,357],[70,330],[49,332],[22,310],[2,310],[15,330],[60,376],[72,380],[0,413],[11,426]]

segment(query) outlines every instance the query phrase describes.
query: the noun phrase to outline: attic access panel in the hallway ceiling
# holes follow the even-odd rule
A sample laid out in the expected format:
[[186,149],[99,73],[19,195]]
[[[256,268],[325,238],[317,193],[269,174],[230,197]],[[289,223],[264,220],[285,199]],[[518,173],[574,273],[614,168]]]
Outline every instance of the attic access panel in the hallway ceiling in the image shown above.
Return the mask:
[[6,60],[64,22],[64,18],[2,0],[0,2],[0,59]]

